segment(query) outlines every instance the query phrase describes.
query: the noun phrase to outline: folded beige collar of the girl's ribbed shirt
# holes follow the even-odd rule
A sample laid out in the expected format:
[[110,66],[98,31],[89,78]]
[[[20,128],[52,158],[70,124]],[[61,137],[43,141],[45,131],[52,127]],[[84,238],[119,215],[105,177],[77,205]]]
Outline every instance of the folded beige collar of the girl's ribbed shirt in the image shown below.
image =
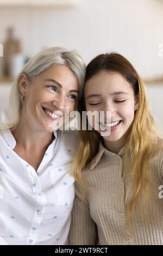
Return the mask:
[[109,151],[108,149],[106,149],[103,146],[102,141],[99,142],[99,149],[98,149],[98,153],[96,156],[93,157],[93,159],[91,160],[91,164],[90,164],[90,169],[92,170],[93,168],[95,168],[99,162],[99,160],[101,160],[101,157],[103,154],[108,155],[109,157],[111,156],[123,156],[125,152],[125,147],[121,148],[120,151],[118,152],[118,154],[112,153],[111,151]]

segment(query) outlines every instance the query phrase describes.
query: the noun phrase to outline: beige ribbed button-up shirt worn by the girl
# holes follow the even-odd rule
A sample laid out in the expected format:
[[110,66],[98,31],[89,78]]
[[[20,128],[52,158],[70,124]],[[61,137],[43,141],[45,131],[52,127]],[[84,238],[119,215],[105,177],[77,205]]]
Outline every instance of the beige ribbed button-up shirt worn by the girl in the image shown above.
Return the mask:
[[124,162],[124,148],[114,154],[99,145],[98,154],[82,172],[84,180],[89,182],[85,185],[84,202],[76,182],[70,245],[163,245],[163,198],[159,198],[159,186],[163,185],[163,152],[150,162],[156,193],[154,200],[150,196],[147,199],[148,222],[133,211],[132,232],[127,227],[124,209],[124,193],[130,184],[130,174],[122,180],[129,162],[129,159]]

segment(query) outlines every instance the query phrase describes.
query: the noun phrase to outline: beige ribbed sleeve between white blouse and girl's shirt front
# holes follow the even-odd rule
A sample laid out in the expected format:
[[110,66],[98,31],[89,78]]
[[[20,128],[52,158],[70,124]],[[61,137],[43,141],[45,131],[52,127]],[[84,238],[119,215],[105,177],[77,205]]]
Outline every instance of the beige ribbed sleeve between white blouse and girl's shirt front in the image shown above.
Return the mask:
[[72,210],[68,243],[69,245],[95,245],[97,237],[96,224],[91,218],[86,199],[82,200],[82,193],[77,182],[75,187],[76,197]]

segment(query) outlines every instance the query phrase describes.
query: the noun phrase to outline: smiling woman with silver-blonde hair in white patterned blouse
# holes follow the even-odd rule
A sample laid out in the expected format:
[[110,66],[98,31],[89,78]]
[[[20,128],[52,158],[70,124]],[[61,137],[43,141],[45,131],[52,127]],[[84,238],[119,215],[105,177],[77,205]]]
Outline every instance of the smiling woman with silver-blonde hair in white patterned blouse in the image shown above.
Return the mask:
[[[15,80],[8,124],[0,124],[0,242],[64,245],[74,199],[73,131],[60,131],[76,108],[85,65],[74,51],[48,48]],[[61,121],[60,121],[61,120]]]

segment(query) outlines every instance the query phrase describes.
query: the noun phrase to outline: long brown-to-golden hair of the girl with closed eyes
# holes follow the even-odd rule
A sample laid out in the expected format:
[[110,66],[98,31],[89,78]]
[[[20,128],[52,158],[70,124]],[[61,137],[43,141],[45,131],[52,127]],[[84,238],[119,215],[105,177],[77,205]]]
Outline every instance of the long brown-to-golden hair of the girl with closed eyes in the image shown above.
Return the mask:
[[[121,54],[101,54],[87,65],[85,82],[101,70],[121,74],[133,87],[134,94],[139,97],[139,107],[135,111],[134,120],[126,132],[127,141],[124,155],[125,159],[128,156],[131,157],[131,164],[128,169],[131,172],[131,181],[125,198],[127,222],[130,225],[131,211],[133,209],[140,210],[139,198],[141,197],[141,204],[143,205],[152,188],[148,163],[161,147],[158,140],[160,133],[154,125],[154,118],[148,108],[145,85],[133,65]],[[84,95],[79,102],[79,111],[80,113],[86,111]],[[83,196],[82,170],[97,154],[100,139],[101,136],[95,130],[79,131],[79,150],[73,162],[73,176],[81,185]],[[129,193],[131,193],[130,197]]]

